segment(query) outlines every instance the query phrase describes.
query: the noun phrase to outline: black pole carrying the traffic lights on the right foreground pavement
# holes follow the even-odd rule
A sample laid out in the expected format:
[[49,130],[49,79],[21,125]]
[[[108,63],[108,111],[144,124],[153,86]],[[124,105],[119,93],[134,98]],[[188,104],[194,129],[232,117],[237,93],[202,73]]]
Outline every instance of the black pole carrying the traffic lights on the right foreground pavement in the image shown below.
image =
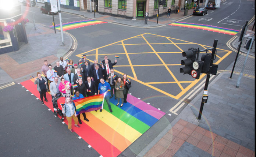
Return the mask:
[[[213,42],[213,49],[211,51],[210,67],[213,66],[213,60],[214,60],[214,56],[215,56],[215,52],[216,52],[217,43],[218,43],[218,40],[215,39]],[[206,81],[205,81],[205,89],[204,89],[203,94],[207,94],[206,92],[207,92],[207,88],[208,88],[208,84],[209,84],[209,80],[210,80],[210,75],[211,75],[211,72],[210,71],[207,72]],[[201,106],[200,106],[200,110],[199,110],[198,119],[201,119],[204,104],[205,104],[205,102],[203,101],[203,97],[202,97],[202,102],[201,102]]]

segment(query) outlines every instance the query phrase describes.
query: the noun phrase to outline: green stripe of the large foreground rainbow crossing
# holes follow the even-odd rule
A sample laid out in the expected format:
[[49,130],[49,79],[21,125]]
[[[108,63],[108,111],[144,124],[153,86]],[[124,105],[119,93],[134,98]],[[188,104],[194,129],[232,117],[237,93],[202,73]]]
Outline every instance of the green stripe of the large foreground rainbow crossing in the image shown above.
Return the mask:
[[[129,113],[125,112],[121,108],[115,106],[112,103],[110,103],[110,104],[111,104],[111,109],[113,110],[113,112],[111,113],[112,115],[114,115],[118,119],[122,120],[124,123],[126,123],[129,126],[131,126],[135,130],[139,131],[141,134],[143,134],[144,132],[146,132],[150,128],[150,126],[148,126],[147,124],[141,122],[140,120],[138,120],[134,116],[130,115]],[[107,106],[107,102],[106,101],[104,101],[103,108],[107,112],[110,113],[109,107]]]

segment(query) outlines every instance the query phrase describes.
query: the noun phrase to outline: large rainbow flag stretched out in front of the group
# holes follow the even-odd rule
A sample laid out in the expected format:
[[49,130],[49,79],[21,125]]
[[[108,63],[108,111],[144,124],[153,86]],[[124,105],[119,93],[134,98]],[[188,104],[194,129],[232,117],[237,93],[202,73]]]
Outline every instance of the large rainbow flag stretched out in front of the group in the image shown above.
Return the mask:
[[103,108],[104,93],[96,96],[85,97],[73,100],[77,108],[77,115],[80,113],[95,111]]

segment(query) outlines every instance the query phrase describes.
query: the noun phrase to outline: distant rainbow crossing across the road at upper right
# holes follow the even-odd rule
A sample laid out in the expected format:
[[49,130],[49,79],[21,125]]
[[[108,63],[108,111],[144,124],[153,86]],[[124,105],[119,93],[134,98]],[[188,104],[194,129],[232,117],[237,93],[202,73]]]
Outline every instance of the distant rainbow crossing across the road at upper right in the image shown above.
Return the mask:
[[210,26],[210,25],[202,25],[202,24],[196,24],[196,23],[174,22],[169,25],[208,30],[208,31],[214,31],[214,32],[229,34],[229,35],[235,35],[239,32],[239,30],[228,29],[228,28],[217,27],[217,26]]

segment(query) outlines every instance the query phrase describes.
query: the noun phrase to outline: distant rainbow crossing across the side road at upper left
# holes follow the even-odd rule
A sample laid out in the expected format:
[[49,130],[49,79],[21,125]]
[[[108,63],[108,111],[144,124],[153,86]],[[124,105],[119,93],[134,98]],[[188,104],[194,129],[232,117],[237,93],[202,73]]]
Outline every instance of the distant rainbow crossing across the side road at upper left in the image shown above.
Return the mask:
[[[70,29],[75,29],[75,28],[80,28],[80,27],[85,27],[85,26],[90,26],[90,25],[97,25],[97,24],[102,24],[102,23],[107,23],[103,21],[98,21],[98,20],[81,20],[81,21],[74,21],[74,22],[67,22],[62,24],[63,31],[70,30]],[[50,26],[54,27],[54,26]],[[60,30],[60,25],[55,25],[56,29]]]

